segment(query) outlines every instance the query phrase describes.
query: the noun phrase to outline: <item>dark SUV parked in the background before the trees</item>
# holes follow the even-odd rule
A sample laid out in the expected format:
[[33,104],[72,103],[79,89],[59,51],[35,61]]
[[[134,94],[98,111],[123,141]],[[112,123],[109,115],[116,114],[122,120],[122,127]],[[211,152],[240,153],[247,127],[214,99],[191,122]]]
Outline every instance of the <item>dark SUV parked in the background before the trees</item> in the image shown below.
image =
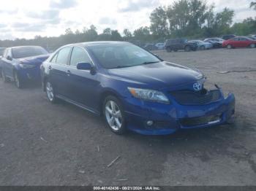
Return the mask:
[[168,39],[165,42],[165,50],[167,52],[178,50],[185,50],[189,52],[190,50],[197,50],[196,42],[188,42],[187,39]]

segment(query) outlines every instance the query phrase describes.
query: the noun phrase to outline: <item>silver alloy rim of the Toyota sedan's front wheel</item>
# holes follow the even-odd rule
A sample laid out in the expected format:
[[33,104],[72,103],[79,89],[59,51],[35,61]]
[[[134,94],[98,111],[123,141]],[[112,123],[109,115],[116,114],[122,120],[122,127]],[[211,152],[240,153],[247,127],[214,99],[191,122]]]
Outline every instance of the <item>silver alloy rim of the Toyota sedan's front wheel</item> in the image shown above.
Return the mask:
[[121,109],[115,101],[110,100],[105,104],[105,117],[110,128],[115,131],[121,129],[123,118]]

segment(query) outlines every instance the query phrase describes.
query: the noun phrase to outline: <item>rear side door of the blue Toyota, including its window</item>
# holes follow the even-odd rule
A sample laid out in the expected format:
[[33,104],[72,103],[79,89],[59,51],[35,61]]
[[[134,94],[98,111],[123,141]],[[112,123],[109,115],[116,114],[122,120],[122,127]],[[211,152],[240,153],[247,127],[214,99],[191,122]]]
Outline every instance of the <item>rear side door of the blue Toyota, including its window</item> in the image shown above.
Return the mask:
[[68,73],[69,70],[69,56],[72,47],[64,47],[50,60],[48,70],[50,70],[50,81],[53,84],[56,94],[64,95],[67,97],[68,89],[67,83],[69,83]]

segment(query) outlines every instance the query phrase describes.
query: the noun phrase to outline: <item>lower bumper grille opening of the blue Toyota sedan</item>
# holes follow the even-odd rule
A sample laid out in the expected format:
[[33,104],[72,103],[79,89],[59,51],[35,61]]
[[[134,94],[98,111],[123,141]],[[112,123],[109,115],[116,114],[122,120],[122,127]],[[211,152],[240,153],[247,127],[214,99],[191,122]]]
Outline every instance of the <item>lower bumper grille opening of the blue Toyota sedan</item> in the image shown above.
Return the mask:
[[214,124],[220,122],[222,117],[221,114],[204,116],[204,117],[192,117],[192,118],[184,118],[180,120],[181,125],[184,127],[191,127],[196,125],[206,125],[206,124]]

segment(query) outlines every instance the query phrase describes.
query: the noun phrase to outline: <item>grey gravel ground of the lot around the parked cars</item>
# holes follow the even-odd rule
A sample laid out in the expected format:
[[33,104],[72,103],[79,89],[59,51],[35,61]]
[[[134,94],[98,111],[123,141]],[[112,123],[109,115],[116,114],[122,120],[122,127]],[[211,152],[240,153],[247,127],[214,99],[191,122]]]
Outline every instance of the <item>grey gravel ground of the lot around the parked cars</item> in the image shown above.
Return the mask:
[[[0,82],[0,185],[256,185],[256,49],[156,52],[236,95],[236,122],[117,136],[40,87]],[[116,157],[116,163],[111,163]]]

